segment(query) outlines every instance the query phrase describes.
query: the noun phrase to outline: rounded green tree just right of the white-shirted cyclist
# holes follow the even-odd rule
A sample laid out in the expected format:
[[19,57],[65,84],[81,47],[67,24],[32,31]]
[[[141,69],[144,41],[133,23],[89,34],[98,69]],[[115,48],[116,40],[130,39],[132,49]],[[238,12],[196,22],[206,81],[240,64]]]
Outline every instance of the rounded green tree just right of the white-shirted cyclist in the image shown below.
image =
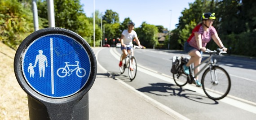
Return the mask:
[[135,31],[137,32],[141,45],[153,48],[154,45],[158,44],[158,28],[156,26],[147,24],[144,21]]

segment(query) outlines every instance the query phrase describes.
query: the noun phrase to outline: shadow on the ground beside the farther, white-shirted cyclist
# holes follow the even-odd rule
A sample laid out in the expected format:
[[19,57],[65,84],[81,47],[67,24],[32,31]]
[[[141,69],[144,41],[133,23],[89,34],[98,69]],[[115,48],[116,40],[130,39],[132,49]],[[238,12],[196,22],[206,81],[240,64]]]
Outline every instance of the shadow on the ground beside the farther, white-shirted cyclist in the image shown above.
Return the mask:
[[120,72],[111,72],[108,71],[107,73],[97,73],[97,78],[113,78],[114,80],[122,80],[124,82],[131,82],[130,78],[127,75],[121,74]]

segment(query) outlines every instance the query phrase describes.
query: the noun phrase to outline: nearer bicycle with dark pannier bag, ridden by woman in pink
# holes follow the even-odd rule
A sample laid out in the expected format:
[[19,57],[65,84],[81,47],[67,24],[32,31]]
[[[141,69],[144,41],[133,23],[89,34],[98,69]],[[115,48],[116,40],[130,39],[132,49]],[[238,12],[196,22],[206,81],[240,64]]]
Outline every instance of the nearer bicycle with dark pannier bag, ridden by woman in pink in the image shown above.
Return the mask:
[[[198,66],[193,67],[193,65],[190,65],[190,74],[186,75],[183,72],[182,66],[186,64],[189,60],[188,57],[181,57],[181,64],[179,65],[178,72],[176,74],[173,74],[173,79],[174,82],[176,83],[177,86],[185,86],[187,83],[192,84],[193,81],[195,81],[196,77],[203,72],[203,70],[209,66],[207,69],[205,69],[202,79],[201,79],[201,84],[203,85],[203,91],[209,97],[210,99],[213,100],[219,100],[223,99],[230,91],[231,87],[231,80],[229,74],[226,72],[225,69],[219,67],[216,65],[217,60],[213,59],[213,55],[221,57],[222,53],[227,53],[226,51],[222,51],[222,49],[217,49],[217,51],[211,51],[207,49],[205,51],[208,53],[210,56],[201,62]],[[203,65],[206,63],[205,65]],[[194,69],[197,67],[203,65],[203,68],[200,69],[200,71],[193,75]]]

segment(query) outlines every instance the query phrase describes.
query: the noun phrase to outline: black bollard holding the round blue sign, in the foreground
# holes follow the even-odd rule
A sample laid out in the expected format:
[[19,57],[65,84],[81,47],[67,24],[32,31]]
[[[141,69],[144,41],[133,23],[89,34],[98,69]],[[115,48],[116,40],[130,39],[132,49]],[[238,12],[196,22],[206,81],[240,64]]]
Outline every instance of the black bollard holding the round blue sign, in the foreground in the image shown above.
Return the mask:
[[97,74],[89,44],[62,28],[35,31],[22,41],[14,72],[28,96],[30,120],[88,120],[88,91]]

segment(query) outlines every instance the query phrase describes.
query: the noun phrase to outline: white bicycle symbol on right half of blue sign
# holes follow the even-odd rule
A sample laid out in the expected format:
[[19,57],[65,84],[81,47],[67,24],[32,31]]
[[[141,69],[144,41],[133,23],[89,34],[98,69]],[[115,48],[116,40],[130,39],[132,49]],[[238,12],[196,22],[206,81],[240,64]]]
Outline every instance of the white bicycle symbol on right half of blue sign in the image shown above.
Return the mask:
[[[79,61],[75,61],[77,64],[68,64],[69,62],[65,62],[66,66],[64,68],[59,68],[57,70],[57,75],[59,77],[66,77],[66,75],[70,76],[72,72],[76,70],[76,75],[78,77],[84,77],[86,74],[85,69],[79,68]],[[75,69],[69,69],[69,66],[77,66]]]

